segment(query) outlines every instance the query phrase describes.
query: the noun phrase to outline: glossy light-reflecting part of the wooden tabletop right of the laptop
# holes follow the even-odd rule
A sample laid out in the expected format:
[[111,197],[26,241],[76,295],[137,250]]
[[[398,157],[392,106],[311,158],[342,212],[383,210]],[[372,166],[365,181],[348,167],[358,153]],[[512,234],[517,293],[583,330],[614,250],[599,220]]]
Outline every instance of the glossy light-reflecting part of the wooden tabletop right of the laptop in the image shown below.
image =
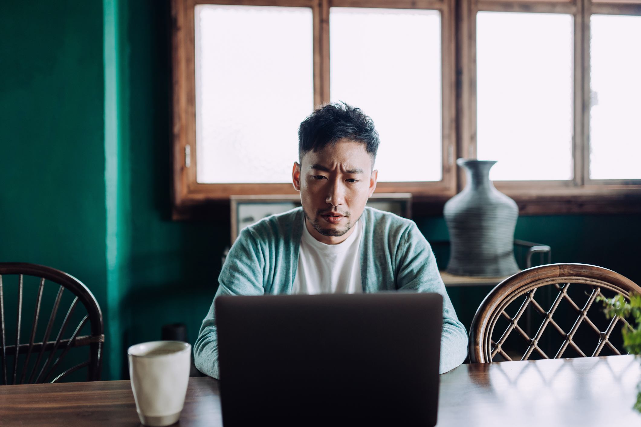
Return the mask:
[[441,376],[438,426],[641,426],[632,355],[469,364]]

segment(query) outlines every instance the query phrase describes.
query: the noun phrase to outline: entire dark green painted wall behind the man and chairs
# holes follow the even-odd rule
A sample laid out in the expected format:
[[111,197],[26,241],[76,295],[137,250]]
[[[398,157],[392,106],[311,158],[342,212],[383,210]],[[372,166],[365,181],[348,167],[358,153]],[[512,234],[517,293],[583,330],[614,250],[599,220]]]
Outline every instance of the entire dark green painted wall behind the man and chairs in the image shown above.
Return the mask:
[[[103,378],[126,378],[126,347],[160,338],[162,325],[186,323],[195,341],[229,239],[228,223],[170,218],[169,3],[0,8],[0,261],[87,284],[106,321]],[[552,246],[554,262],[641,282],[639,219],[522,217],[515,237]],[[447,239],[442,217],[415,220],[429,240]],[[464,321],[486,291],[451,289]]]

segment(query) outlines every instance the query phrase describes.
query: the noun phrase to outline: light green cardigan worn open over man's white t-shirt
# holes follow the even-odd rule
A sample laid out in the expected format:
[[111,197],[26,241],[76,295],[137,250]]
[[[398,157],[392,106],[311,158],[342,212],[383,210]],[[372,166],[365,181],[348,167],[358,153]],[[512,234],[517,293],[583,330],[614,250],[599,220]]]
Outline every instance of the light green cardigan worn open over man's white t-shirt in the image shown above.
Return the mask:
[[[467,356],[467,333],[456,318],[428,241],[413,221],[391,213],[366,207],[360,221],[363,292],[403,289],[442,294],[440,373],[460,365]],[[242,230],[222,266],[214,298],[292,293],[302,232],[300,207]],[[213,302],[194,345],[194,358],[201,372],[219,377]]]

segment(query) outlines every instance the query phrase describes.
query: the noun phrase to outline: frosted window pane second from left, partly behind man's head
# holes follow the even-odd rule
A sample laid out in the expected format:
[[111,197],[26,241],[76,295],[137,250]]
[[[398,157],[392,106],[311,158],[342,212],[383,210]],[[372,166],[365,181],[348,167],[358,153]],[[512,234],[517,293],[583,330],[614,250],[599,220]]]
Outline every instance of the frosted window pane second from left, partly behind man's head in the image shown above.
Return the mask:
[[440,181],[440,13],[329,9],[332,101],[363,109],[381,136],[379,181]]

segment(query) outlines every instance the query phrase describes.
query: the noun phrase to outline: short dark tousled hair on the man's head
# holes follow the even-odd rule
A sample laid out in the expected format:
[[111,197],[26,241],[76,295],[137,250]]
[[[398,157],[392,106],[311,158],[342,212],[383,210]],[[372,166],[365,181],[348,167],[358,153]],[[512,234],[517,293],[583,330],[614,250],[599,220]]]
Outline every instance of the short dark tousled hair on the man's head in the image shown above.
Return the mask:
[[305,153],[322,150],[342,138],[365,144],[374,163],[380,143],[374,122],[360,108],[342,101],[326,104],[303,120],[298,128],[299,161]]

